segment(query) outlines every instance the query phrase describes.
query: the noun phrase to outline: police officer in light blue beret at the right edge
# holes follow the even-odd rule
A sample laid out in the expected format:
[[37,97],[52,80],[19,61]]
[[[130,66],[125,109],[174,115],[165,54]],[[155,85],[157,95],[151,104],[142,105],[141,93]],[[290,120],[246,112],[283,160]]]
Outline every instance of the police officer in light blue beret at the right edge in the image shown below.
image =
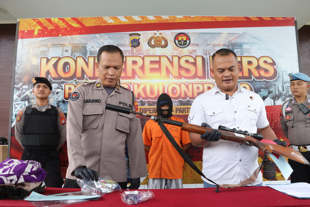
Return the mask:
[[[289,139],[290,146],[299,150],[310,161],[310,78],[303,73],[289,74],[291,93],[294,97],[284,104],[280,110],[280,122],[283,133]],[[291,183],[310,183],[310,167],[289,159],[293,168]]]

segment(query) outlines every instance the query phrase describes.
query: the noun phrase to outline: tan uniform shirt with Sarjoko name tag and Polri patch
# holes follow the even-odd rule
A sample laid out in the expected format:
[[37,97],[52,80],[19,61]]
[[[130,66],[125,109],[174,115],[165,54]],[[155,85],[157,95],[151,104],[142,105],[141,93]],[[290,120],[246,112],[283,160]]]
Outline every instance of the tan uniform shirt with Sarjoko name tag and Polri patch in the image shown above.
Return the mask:
[[66,178],[76,179],[76,167],[86,166],[116,182],[127,180],[125,141],[130,177],[147,176],[140,119],[135,114],[106,110],[106,103],[134,109],[134,94],[116,86],[108,96],[100,80],[77,87],[70,96],[67,120],[69,166]]

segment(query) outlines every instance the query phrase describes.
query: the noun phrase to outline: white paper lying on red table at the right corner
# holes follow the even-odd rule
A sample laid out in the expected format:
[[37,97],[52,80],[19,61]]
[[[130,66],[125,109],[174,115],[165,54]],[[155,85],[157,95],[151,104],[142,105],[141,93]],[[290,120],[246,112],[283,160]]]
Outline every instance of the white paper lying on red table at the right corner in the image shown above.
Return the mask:
[[267,184],[266,186],[276,191],[283,192],[285,194],[291,195],[296,198],[310,199],[310,184],[309,183],[291,183],[291,184],[282,184],[282,185]]

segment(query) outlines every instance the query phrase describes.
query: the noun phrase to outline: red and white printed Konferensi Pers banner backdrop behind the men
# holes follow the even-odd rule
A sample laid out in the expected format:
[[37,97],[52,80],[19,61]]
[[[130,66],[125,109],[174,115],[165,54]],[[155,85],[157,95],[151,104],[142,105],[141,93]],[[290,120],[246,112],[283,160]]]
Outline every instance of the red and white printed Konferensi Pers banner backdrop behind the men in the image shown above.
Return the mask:
[[[31,79],[46,77],[53,86],[50,103],[66,113],[74,88],[98,79],[96,54],[101,46],[109,44],[124,51],[121,84],[135,93],[140,112],[156,114],[157,97],[167,93],[173,100],[173,114],[185,121],[195,97],[214,87],[212,54],[219,48],[232,49],[241,65],[238,82],[265,100],[270,126],[279,139],[287,141],[281,131],[279,110],[283,101],[292,97],[287,74],[299,72],[292,17],[19,19],[11,158],[20,159],[22,153],[14,124],[16,113],[35,101]],[[268,92],[272,93],[268,96]],[[143,128],[149,118],[140,119]],[[66,144],[60,153],[64,175],[68,166]],[[202,168],[202,148],[191,147],[187,154]],[[260,152],[259,162],[262,157]],[[284,180],[278,169],[276,179]],[[187,164],[184,183],[202,183],[200,175]]]

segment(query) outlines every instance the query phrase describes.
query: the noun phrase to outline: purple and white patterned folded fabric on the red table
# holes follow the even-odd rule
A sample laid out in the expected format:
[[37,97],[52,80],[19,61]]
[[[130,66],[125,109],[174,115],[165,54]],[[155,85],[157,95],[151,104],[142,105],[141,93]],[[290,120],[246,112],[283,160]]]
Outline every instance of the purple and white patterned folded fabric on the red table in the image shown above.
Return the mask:
[[0,162],[0,184],[41,182],[47,176],[41,166],[34,160],[5,159]]

